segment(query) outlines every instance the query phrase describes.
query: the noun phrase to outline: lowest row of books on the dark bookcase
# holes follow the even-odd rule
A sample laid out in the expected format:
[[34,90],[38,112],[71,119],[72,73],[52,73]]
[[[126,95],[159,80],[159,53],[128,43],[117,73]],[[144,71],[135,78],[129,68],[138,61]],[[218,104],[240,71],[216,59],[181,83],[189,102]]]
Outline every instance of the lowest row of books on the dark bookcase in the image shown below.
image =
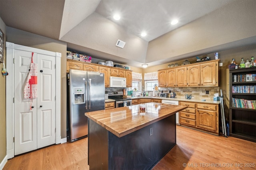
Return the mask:
[[256,100],[232,98],[232,107],[256,109]]

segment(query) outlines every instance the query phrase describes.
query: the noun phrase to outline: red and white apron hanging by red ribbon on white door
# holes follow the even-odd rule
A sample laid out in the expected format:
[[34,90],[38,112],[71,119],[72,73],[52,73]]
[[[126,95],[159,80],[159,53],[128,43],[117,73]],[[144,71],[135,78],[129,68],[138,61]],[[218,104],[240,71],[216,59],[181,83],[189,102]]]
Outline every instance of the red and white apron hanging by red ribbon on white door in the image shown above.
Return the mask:
[[30,71],[24,88],[24,98],[30,99],[30,110],[32,109],[32,98],[37,98],[37,64],[33,62],[33,55],[34,53],[32,53]]

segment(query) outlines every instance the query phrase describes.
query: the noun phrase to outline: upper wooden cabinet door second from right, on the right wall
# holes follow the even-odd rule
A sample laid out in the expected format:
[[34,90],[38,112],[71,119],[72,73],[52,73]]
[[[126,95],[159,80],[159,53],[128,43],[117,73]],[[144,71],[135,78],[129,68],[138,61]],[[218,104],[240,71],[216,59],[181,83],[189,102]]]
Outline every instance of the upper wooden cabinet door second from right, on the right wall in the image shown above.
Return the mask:
[[188,86],[200,86],[200,65],[188,66]]

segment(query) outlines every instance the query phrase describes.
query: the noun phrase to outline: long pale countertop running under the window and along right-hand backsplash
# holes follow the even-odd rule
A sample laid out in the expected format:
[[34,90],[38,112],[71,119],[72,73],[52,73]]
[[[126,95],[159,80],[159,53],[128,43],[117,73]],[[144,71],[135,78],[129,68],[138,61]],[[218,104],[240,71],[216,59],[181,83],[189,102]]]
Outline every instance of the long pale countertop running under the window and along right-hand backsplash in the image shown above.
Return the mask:
[[202,100],[196,100],[196,99],[185,99],[184,98],[162,98],[162,97],[152,97],[152,96],[148,96],[148,97],[132,97],[131,99],[162,99],[162,100],[173,100],[173,101],[184,101],[184,102],[196,102],[196,103],[208,103],[208,104],[220,104],[220,101],[213,101],[213,100],[206,100],[206,101],[202,101]]

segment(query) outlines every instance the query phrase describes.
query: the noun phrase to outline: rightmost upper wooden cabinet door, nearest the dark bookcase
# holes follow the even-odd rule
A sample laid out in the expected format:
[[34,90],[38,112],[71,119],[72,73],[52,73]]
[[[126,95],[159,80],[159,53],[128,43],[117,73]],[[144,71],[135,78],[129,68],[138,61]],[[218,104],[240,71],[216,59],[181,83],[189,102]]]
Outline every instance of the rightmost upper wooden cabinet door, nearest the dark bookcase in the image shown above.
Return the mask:
[[218,62],[200,64],[201,67],[201,85],[218,86]]

